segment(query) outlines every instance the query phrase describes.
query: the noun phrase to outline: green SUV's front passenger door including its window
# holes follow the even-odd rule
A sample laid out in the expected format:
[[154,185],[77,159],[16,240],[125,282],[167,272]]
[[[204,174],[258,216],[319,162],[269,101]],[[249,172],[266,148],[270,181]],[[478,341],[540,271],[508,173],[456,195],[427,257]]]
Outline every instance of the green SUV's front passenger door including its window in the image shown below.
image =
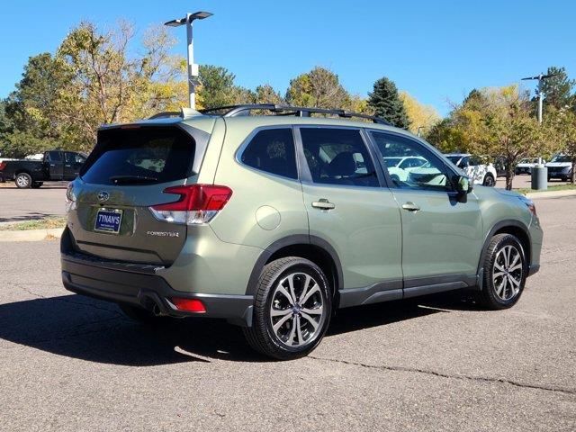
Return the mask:
[[[475,275],[483,243],[482,216],[475,195],[469,194],[467,202],[458,201],[452,185],[455,171],[426,144],[392,132],[373,130],[369,135],[386,171],[387,158],[427,160],[407,173],[406,180],[392,183],[401,209],[404,287],[442,284],[434,276]],[[447,277],[446,282],[455,279]]]

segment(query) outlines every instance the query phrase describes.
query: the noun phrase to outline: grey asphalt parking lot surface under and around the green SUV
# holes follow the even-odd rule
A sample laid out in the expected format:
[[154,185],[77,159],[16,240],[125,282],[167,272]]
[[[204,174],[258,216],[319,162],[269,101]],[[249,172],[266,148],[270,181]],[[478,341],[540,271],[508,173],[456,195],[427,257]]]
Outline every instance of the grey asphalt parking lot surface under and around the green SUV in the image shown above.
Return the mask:
[[515,308],[345,310],[287,363],[224,322],[141,327],[68,293],[56,241],[0,244],[0,430],[573,431],[576,197],[536,205],[542,269]]

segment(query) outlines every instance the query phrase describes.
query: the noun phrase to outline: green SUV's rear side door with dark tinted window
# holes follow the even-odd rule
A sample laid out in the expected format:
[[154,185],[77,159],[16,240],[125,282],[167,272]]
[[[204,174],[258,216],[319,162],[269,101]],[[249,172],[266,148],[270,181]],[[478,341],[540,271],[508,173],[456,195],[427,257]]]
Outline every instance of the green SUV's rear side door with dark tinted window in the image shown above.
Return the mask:
[[380,286],[400,288],[400,210],[392,192],[380,186],[380,172],[360,130],[302,127],[296,137],[304,156],[302,192],[310,234],[338,253],[343,287],[396,281]]

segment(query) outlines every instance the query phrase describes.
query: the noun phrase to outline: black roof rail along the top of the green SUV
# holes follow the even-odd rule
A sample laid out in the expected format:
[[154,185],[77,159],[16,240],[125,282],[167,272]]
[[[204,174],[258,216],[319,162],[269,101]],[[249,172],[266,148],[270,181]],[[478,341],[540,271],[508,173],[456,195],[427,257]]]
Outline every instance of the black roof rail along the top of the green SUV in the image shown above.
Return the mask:
[[242,115],[250,115],[250,112],[252,111],[269,111],[275,112],[275,115],[295,115],[298,117],[311,117],[312,113],[332,114],[338,115],[338,117],[342,118],[357,117],[374,121],[374,123],[392,126],[389,121],[385,121],[383,118],[375,117],[374,115],[361,114],[359,112],[349,112],[346,110],[329,110],[325,108],[310,108],[305,106],[276,105],[274,103],[226,105],[200,110],[202,114],[216,114],[221,115],[222,117],[238,117]]

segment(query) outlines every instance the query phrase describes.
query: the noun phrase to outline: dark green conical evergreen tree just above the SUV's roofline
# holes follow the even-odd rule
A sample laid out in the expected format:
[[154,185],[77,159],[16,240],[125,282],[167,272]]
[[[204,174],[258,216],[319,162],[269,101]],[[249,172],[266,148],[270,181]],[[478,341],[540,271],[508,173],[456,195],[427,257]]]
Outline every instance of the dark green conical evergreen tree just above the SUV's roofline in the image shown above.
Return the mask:
[[398,88],[387,77],[382,77],[374,83],[374,91],[369,95],[368,104],[374,109],[378,117],[390,121],[392,125],[408,129],[410,119],[402,103]]

